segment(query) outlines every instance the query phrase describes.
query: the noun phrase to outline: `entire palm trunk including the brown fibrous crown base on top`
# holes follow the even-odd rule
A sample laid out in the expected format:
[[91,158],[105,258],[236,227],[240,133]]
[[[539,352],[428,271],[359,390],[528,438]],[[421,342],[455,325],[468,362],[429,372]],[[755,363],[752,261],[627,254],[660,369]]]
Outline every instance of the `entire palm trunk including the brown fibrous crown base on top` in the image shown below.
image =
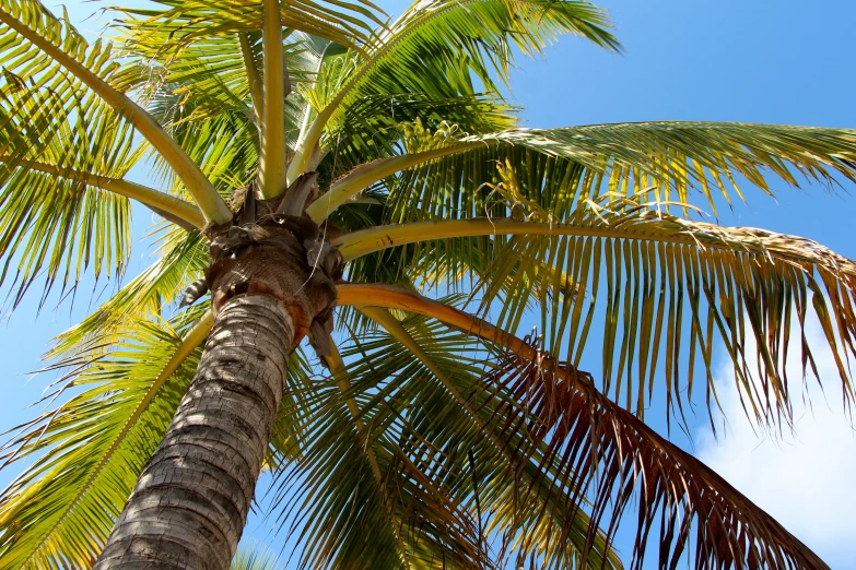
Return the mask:
[[[286,198],[300,209],[305,194]],[[210,286],[216,316],[196,377],[95,570],[228,568],[289,355],[310,329],[332,328],[339,251],[308,217],[279,213],[279,200],[257,200],[253,187],[239,198],[232,224],[207,229],[212,262],[204,285],[185,298],[191,304]]]

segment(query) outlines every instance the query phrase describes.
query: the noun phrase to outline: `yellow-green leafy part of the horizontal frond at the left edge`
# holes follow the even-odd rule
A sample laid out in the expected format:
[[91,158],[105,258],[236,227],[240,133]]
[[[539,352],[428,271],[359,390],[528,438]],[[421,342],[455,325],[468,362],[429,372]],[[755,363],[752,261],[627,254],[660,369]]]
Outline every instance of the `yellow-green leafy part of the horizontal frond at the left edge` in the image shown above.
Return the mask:
[[90,177],[128,171],[139,156],[133,131],[92,95],[63,97],[77,88],[62,75],[0,80],[0,283],[17,285],[14,305],[43,271],[44,299],[86,269],[120,274],[129,253],[128,199]]

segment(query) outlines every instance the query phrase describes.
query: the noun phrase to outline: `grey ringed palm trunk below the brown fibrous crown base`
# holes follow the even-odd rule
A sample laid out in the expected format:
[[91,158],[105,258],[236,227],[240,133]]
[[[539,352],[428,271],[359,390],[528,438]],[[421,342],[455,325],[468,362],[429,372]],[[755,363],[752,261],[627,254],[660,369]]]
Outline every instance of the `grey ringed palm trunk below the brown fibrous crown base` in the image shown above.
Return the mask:
[[225,570],[270,440],[295,322],[245,294],[218,313],[196,377],[116,523],[96,570]]

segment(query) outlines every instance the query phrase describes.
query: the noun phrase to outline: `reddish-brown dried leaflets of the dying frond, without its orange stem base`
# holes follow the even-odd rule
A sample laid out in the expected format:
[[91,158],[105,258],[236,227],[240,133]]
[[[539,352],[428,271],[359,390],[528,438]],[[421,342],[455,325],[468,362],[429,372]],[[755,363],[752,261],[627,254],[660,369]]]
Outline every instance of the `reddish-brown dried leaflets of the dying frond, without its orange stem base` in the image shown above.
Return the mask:
[[684,556],[697,568],[829,568],[713,470],[598,392],[590,377],[550,372],[515,354],[506,358],[506,369],[488,379],[513,394],[499,413],[511,429],[526,425],[565,466],[543,484],[581,489],[572,503],[593,497],[591,519],[610,534],[635,507],[630,568],[643,567],[657,530],[660,568],[675,568]]

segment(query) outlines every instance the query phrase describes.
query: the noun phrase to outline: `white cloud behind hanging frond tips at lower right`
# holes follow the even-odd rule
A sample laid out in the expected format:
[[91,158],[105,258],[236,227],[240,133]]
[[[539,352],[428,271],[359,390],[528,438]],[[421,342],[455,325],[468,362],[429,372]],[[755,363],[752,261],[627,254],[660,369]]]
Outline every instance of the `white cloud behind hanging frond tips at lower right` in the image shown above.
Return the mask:
[[[730,365],[717,375],[727,418],[718,441],[699,435],[697,456],[776,518],[832,568],[856,569],[856,432],[845,416],[841,380],[819,325],[807,326],[823,392],[809,376],[801,397],[798,343],[791,343],[788,377],[795,429],[783,436],[757,434],[746,419]],[[791,336],[796,339],[796,336]],[[752,353],[750,353],[752,354]],[[794,385],[797,384],[797,385]],[[825,393],[824,393],[825,392]]]

